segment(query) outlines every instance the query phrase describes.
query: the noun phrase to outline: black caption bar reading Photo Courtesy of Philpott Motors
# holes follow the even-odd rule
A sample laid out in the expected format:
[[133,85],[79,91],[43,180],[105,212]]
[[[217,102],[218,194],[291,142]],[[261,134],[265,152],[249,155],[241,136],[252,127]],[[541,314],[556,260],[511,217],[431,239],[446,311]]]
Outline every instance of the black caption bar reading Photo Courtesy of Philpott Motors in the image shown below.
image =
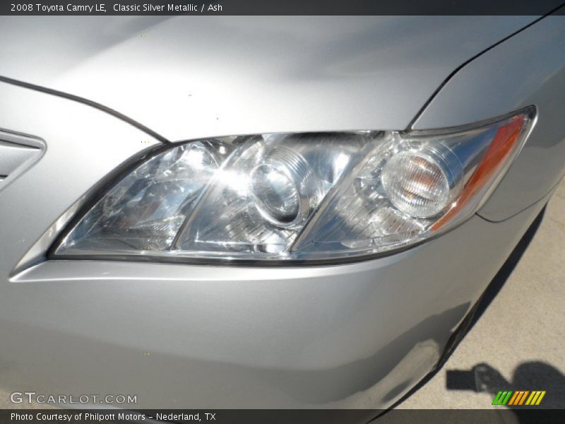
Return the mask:
[[125,423],[565,423],[564,409],[169,409],[121,411],[117,409],[3,409],[0,423],[125,424]]

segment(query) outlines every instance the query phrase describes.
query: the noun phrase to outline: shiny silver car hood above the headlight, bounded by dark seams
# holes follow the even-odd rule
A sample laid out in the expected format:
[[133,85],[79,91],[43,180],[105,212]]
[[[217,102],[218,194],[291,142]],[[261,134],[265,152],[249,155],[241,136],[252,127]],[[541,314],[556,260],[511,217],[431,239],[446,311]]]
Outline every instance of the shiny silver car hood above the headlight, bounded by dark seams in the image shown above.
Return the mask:
[[0,76],[172,141],[405,129],[458,66],[535,18],[18,16],[1,20]]

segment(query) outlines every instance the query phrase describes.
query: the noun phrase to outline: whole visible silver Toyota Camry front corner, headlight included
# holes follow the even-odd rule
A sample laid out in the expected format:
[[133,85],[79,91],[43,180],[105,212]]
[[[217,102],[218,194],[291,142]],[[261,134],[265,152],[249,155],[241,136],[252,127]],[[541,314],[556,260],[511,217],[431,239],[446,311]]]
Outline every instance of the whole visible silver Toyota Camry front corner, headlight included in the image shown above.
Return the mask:
[[1,386],[393,405],[564,174],[564,29],[2,19]]

